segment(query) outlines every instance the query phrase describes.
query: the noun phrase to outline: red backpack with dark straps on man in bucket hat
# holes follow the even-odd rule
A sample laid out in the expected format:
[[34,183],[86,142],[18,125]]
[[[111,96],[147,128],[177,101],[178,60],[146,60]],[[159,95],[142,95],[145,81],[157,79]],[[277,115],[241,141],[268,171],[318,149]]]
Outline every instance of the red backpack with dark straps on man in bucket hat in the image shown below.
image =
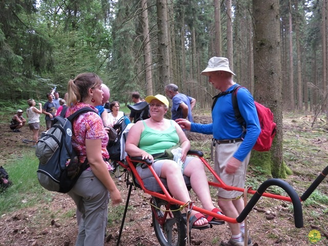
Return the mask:
[[[243,117],[240,114],[238,103],[237,103],[237,91],[239,88],[242,88],[242,86],[237,86],[232,91],[221,92],[217,96],[215,96],[212,110],[214,108],[214,105],[218,97],[232,93],[231,99],[232,99],[232,106],[235,111],[235,117],[237,121],[240,123],[240,125],[242,126],[243,132],[246,132],[247,131],[246,124]],[[261,133],[256,140],[253,150],[269,151],[272,146],[272,141],[277,132],[276,123],[273,122],[273,113],[269,108],[257,103],[257,101],[254,101],[254,103],[255,103],[258,119],[260,121]]]

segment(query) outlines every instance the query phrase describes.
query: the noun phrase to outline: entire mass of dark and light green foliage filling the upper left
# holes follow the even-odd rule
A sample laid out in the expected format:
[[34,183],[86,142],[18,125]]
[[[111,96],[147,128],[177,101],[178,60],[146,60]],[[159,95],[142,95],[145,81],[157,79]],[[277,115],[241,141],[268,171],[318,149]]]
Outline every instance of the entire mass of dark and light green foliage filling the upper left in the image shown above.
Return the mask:
[[40,1],[38,9],[35,0],[3,4],[1,98],[41,99],[54,86],[64,94],[68,80],[81,72],[95,72],[108,84],[112,1]]

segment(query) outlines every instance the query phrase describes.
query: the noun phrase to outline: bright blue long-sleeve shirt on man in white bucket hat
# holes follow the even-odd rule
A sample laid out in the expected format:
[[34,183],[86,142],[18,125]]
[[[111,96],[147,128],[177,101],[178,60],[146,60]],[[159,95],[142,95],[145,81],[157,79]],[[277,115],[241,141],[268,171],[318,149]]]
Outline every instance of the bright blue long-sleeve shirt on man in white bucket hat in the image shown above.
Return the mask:
[[[231,86],[227,91],[233,90],[238,84]],[[218,140],[236,139],[243,137],[243,142],[233,155],[236,159],[243,161],[252,150],[261,132],[254,98],[246,88],[239,88],[237,101],[240,114],[247,124],[247,133],[242,133],[242,127],[235,118],[232,106],[232,93],[220,96],[212,111],[211,124],[191,124],[191,131],[203,134],[213,134]]]

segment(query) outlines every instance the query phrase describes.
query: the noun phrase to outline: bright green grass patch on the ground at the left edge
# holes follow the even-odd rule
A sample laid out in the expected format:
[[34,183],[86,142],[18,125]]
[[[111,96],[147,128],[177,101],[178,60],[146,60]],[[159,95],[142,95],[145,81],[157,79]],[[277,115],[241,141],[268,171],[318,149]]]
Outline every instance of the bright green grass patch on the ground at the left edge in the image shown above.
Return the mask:
[[22,154],[22,158],[4,166],[13,185],[0,195],[0,216],[52,200],[51,194],[46,192],[37,180],[38,160],[34,152]]

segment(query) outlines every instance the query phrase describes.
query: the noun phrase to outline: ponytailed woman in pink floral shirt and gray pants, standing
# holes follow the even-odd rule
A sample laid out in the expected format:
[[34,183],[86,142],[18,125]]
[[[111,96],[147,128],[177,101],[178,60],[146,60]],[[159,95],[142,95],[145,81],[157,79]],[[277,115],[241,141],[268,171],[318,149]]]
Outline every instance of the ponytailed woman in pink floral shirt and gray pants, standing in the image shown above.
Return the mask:
[[68,194],[77,207],[78,235],[75,245],[104,245],[109,195],[112,204],[121,201],[109,171],[109,154],[106,146],[108,134],[95,106],[101,104],[104,92],[102,81],[94,73],[83,73],[68,82],[66,117],[83,107],[95,112],[79,115],[73,122],[72,145],[80,162],[88,159],[89,168],[84,171]]

